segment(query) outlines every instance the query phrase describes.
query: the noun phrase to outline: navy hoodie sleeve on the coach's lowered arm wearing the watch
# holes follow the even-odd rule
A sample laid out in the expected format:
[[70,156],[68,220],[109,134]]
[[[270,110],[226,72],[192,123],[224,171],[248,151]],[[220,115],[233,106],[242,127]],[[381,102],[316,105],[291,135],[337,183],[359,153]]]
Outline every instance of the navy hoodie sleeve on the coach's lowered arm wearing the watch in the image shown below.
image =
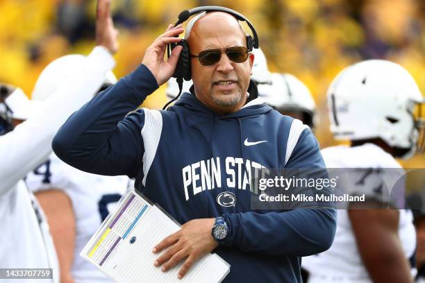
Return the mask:
[[[319,144],[303,130],[286,168],[324,168]],[[334,209],[298,208],[287,212],[224,214],[229,228],[224,246],[268,255],[315,255],[331,247],[336,229]]]

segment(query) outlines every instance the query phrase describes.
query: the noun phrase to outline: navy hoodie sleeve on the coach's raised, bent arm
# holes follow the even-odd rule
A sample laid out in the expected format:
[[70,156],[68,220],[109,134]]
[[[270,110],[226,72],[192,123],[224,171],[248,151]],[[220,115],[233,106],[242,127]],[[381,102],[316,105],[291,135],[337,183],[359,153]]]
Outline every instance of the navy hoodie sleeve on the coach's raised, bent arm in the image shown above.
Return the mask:
[[151,71],[140,65],[72,114],[54,137],[53,151],[80,170],[134,178],[144,153],[144,111],[134,110],[157,88]]

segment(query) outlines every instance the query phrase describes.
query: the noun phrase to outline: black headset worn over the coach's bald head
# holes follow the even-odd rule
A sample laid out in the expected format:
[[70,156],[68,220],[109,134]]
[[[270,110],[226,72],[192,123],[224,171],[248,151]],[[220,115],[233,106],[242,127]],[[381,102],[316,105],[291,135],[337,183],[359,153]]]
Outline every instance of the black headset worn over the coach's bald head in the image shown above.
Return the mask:
[[[256,29],[253,27],[251,22],[249,22],[249,20],[246,17],[244,17],[244,15],[240,14],[240,12],[236,12],[235,10],[225,8],[225,7],[222,7],[222,6],[201,6],[201,7],[197,7],[197,8],[192,8],[190,10],[184,10],[183,12],[181,12],[178,15],[178,21],[176,22],[176,24],[174,24],[174,26],[177,26],[178,24],[182,24],[183,22],[187,21],[191,16],[197,15],[201,12],[226,12],[230,15],[233,15],[233,17],[235,17],[239,21],[246,22],[247,25],[249,26],[249,28],[251,29],[252,34],[253,34],[253,37],[249,34],[246,35],[246,37],[247,37],[247,49],[248,49],[249,52],[251,52],[253,50],[253,48],[258,48],[258,46],[259,46],[258,35],[257,35],[257,32],[256,32]],[[164,106],[163,109],[167,108],[169,103],[172,103],[173,101],[175,101],[180,96],[181,90],[183,89],[183,79],[184,80],[191,80],[191,78],[192,78],[192,70],[191,70],[191,66],[190,66],[189,44],[186,40],[181,40],[178,43],[167,44],[168,58],[171,55],[172,49],[174,49],[174,47],[176,47],[178,45],[182,46],[183,48],[182,48],[180,56],[178,58],[178,62],[177,62],[177,65],[176,65],[176,69],[174,70],[173,77],[176,78],[176,81],[178,83],[179,92],[178,92],[178,95],[174,99],[169,101]]]

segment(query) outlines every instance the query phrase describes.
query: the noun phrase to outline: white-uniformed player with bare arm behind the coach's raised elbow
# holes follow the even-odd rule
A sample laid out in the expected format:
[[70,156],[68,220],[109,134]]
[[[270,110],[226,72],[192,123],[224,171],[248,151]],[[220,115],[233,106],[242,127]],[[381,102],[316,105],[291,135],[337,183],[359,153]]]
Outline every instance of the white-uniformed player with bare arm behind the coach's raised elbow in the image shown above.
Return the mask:
[[[54,89],[67,83],[85,60],[83,55],[66,55],[51,62],[35,84],[33,101],[47,99]],[[109,71],[99,92],[116,82]],[[108,216],[108,207],[124,194],[128,177],[85,173],[51,153],[49,160],[28,173],[25,181],[47,216],[58,254],[60,282],[110,282],[79,253]]]

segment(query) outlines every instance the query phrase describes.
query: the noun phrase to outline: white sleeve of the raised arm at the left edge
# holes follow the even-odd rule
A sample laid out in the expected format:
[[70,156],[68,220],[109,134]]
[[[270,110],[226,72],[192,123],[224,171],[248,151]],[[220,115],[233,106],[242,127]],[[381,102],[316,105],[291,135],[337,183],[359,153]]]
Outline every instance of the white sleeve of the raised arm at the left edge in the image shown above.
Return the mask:
[[42,101],[33,117],[0,137],[0,196],[47,160],[58,128],[92,98],[105,80],[106,72],[114,66],[112,55],[104,47],[94,47],[81,74],[69,78],[66,85]]

